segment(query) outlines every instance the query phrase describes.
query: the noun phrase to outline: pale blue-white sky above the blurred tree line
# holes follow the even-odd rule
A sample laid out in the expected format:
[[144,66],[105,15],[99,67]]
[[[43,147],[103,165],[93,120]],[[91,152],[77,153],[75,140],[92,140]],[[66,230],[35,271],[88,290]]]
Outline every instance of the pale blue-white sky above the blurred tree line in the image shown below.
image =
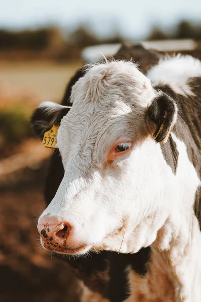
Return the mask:
[[183,19],[201,23],[200,0],[0,0],[0,27],[14,30],[87,23],[100,37],[119,32],[138,39],[156,25],[173,30]]

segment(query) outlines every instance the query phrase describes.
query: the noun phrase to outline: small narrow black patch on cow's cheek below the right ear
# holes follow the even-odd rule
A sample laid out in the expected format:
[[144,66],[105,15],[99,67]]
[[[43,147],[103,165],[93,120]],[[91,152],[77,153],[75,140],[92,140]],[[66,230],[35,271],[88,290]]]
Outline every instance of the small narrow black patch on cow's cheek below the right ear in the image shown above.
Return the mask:
[[160,142],[160,147],[162,150],[163,157],[168,166],[172,169],[172,172],[176,174],[176,168],[178,165],[178,150],[176,148],[176,143],[172,139],[170,134],[169,139],[166,143]]

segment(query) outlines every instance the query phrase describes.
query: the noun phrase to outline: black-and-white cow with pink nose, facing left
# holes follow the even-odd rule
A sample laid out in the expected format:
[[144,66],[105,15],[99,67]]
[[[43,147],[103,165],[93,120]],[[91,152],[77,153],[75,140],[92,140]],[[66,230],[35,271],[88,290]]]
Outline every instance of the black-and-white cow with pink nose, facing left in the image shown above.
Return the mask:
[[40,137],[59,125],[41,244],[92,254],[69,262],[110,301],[200,301],[200,84],[189,55],[145,74],[105,61],[78,71],[63,105],[32,116]]

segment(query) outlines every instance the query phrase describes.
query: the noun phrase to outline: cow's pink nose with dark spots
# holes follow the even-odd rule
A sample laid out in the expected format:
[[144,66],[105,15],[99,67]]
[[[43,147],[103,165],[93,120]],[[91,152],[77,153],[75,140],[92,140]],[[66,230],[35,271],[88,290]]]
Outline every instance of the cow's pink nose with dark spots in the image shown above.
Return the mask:
[[68,222],[58,222],[55,217],[44,216],[38,224],[38,232],[43,245],[48,250],[64,251],[67,248],[67,238],[72,226]]

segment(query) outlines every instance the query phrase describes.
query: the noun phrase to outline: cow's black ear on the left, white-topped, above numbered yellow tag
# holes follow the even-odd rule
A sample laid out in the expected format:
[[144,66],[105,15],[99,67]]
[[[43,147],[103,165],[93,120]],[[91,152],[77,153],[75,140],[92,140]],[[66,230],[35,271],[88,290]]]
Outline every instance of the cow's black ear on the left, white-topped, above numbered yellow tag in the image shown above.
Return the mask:
[[40,104],[31,117],[31,124],[36,135],[43,138],[44,133],[53,125],[60,124],[61,119],[69,110],[70,106],[62,106],[53,102]]

